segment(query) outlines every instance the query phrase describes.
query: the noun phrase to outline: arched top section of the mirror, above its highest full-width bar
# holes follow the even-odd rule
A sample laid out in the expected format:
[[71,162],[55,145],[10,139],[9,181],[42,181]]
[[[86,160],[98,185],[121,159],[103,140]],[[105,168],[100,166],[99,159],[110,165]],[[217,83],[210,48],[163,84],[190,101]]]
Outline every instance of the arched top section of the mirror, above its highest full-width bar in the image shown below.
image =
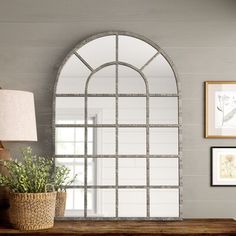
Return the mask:
[[[116,71],[115,65],[118,64]],[[178,93],[176,72],[164,51],[149,39],[127,32],[101,33],[79,43],[59,69],[55,92],[84,94],[86,82],[90,77],[97,79],[97,84],[109,78],[108,89],[112,84],[115,85],[116,73],[123,83],[120,93],[122,90],[128,92],[125,89],[125,81],[127,85],[133,85],[130,93],[146,92],[144,87],[140,86],[143,81],[138,81],[142,80],[142,77],[147,81],[151,94]],[[93,81],[93,84],[96,82]],[[98,91],[92,88],[90,91],[102,93],[103,89],[99,87],[101,86],[98,86]],[[114,89],[115,87],[112,88]],[[108,91],[104,89],[103,92]]]

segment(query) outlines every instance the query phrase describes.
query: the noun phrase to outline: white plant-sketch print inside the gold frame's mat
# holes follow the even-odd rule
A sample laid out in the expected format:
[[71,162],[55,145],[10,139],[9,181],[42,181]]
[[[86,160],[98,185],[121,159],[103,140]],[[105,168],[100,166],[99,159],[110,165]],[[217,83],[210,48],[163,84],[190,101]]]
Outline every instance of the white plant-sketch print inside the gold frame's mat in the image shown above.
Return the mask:
[[215,92],[215,128],[236,127],[236,91]]

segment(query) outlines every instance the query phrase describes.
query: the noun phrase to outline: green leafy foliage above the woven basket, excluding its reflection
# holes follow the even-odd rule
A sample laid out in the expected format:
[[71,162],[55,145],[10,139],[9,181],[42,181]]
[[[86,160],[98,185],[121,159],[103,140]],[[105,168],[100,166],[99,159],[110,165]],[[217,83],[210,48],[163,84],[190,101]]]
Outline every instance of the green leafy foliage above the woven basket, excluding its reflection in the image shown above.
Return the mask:
[[32,153],[32,148],[22,149],[22,161],[5,161],[8,174],[0,174],[0,185],[17,193],[42,193],[52,182],[53,160]]

